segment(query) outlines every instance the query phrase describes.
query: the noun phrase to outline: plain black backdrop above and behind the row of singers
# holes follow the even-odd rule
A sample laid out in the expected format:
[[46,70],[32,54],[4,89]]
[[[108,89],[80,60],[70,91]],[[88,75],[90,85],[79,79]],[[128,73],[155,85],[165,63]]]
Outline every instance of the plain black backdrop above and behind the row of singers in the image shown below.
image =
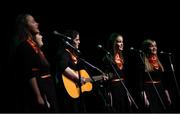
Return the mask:
[[[44,37],[45,53],[49,60],[56,50],[57,40],[52,32],[75,29],[80,32],[80,50],[84,58],[101,68],[102,54],[98,44],[106,46],[112,32],[124,37],[125,48],[139,48],[146,38],[157,41],[158,49],[173,53],[173,64],[179,70],[180,9],[173,2],[119,2],[119,1],[24,1],[2,4],[1,8],[1,84],[3,101],[11,97],[11,50],[15,18],[30,13],[39,23]],[[177,77],[179,81],[179,77]],[[8,101],[10,102],[10,101]],[[8,107],[8,105],[4,105]]]

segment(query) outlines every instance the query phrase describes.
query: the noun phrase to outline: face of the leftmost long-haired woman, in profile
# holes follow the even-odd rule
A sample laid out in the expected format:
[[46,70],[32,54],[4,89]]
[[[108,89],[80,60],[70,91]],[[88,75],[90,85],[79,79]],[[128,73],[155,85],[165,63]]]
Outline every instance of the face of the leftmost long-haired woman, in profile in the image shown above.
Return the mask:
[[39,24],[35,21],[35,19],[31,15],[28,15],[26,17],[26,20],[27,20],[27,25],[28,25],[29,30],[33,34],[39,33],[39,28],[38,28]]

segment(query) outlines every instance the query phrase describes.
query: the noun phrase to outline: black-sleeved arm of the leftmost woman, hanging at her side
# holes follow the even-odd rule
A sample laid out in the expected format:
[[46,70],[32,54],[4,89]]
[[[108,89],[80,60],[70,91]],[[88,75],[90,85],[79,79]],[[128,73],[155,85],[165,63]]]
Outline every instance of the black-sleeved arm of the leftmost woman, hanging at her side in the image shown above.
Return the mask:
[[[36,67],[35,56],[36,53],[28,42],[23,42],[17,48],[18,62],[20,62],[20,68],[22,69],[23,77],[21,80],[25,82],[25,86],[28,85],[32,88],[30,92],[35,95],[39,104],[44,104],[36,76],[39,75],[39,69]],[[28,90],[29,91],[29,90]]]

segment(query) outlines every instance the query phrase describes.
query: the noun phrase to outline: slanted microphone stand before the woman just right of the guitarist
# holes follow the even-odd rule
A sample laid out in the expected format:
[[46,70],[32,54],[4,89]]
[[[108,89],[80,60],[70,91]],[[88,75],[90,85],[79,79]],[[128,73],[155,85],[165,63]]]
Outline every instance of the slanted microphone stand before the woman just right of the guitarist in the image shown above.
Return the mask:
[[[109,56],[108,56],[109,55]],[[121,77],[119,76],[116,68],[114,67],[113,65],[113,57],[110,53],[107,53],[106,54],[106,58],[109,60],[110,64],[111,64],[111,67],[113,68],[115,74],[118,76],[118,78],[120,79]],[[135,105],[136,109],[139,109],[139,107],[137,106],[136,102],[134,101],[133,97],[131,96],[129,90],[127,89],[127,87],[125,86],[124,82],[122,80],[120,80],[121,84],[123,85],[124,89],[126,90],[127,94],[129,95],[130,99],[132,100],[133,104]]]

